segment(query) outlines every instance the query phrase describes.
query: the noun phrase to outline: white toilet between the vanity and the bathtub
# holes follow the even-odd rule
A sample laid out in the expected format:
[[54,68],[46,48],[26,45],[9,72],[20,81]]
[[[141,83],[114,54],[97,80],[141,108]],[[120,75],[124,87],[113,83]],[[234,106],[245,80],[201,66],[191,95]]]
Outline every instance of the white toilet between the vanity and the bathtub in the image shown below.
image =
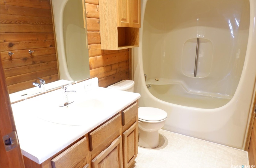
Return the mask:
[[[133,80],[122,80],[108,88],[134,91]],[[167,113],[164,110],[154,107],[139,107],[139,146],[144,148],[155,148],[159,145],[158,130],[164,126]]]

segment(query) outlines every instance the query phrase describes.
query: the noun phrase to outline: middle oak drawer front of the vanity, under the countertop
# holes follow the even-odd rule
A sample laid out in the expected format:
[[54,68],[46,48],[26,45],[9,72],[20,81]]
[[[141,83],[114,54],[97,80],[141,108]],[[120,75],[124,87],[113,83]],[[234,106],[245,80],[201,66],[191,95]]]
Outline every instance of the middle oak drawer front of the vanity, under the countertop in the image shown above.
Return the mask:
[[108,122],[89,133],[90,151],[95,149],[99,149],[99,151],[105,150],[120,135],[120,128],[121,115],[118,113]]

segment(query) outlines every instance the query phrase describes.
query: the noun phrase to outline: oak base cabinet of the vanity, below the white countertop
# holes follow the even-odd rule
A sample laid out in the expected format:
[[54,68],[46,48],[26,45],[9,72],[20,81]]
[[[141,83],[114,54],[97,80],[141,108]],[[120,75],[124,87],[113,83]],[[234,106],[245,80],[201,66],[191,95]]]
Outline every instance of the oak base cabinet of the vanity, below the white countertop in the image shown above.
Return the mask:
[[[78,140],[77,140],[78,141]],[[63,151],[63,152],[62,152]],[[130,168],[138,154],[138,101],[33,168]]]

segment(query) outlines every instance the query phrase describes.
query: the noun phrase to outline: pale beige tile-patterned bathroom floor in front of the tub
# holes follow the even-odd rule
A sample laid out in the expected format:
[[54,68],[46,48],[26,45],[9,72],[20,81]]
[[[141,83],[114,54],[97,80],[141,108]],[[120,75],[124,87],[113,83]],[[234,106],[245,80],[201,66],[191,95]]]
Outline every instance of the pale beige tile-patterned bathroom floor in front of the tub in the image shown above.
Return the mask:
[[139,147],[133,168],[231,168],[248,165],[245,151],[204,140],[159,131],[159,146]]

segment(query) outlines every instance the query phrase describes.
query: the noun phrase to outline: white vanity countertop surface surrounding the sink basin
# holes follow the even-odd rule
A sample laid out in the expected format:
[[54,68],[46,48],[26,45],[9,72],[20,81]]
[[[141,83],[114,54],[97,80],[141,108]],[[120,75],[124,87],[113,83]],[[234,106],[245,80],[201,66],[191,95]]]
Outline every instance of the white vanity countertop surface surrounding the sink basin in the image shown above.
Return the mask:
[[22,154],[38,164],[46,161],[140,98],[138,93],[93,87],[85,91],[85,95],[93,95],[93,97],[106,100],[108,108],[100,114],[85,112],[88,115],[86,114],[83,119],[83,125],[62,125],[38,118],[38,113],[42,113],[43,110],[48,111],[48,106],[56,103],[53,100],[62,98],[62,92],[62,89],[58,89],[12,104]]

